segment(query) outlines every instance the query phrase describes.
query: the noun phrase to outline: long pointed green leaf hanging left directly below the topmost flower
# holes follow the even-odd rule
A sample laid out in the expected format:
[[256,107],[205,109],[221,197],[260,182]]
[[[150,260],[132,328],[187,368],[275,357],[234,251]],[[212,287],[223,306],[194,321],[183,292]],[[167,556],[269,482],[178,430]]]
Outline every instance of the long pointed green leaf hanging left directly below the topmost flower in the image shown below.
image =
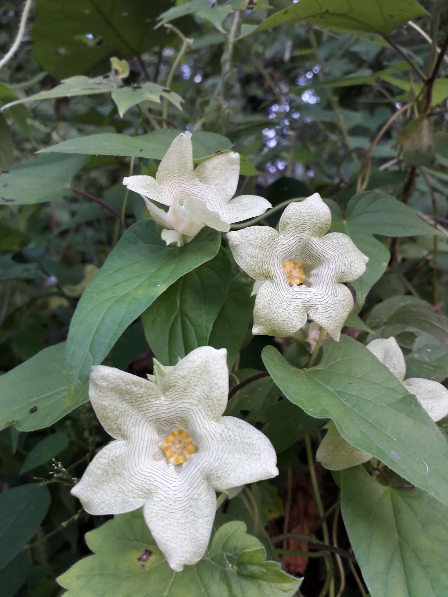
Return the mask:
[[82,294],[67,338],[69,404],[134,319],[185,273],[212,259],[219,232],[205,227],[184,247],[167,247],[152,220],[131,226]]

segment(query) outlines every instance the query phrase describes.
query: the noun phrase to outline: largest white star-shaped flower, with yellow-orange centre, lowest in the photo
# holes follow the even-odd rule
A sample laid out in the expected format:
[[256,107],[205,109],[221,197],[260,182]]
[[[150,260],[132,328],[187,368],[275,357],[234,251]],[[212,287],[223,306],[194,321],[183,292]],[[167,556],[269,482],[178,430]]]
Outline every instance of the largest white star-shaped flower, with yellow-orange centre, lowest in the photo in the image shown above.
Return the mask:
[[92,368],[90,400],[115,441],[94,457],[72,494],[95,515],[143,506],[152,536],[176,571],[207,549],[215,491],[278,475],[269,439],[246,421],[222,417],[226,354],[202,346],[175,367],[156,364],[149,380]]

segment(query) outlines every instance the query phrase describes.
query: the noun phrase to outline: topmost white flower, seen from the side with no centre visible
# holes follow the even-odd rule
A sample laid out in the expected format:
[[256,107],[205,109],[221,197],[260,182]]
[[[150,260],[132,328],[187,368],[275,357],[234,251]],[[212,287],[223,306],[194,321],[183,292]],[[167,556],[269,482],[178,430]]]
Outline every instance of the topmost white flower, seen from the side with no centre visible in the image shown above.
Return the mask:
[[[171,143],[152,176],[123,179],[128,189],[140,193],[152,218],[165,229],[167,244],[191,241],[204,226],[227,232],[230,224],[260,216],[271,207],[256,195],[235,195],[240,176],[240,155],[218,153],[197,168],[193,164],[191,133],[180,133]],[[168,205],[168,212],[150,199]],[[232,201],[231,201],[232,199]]]

